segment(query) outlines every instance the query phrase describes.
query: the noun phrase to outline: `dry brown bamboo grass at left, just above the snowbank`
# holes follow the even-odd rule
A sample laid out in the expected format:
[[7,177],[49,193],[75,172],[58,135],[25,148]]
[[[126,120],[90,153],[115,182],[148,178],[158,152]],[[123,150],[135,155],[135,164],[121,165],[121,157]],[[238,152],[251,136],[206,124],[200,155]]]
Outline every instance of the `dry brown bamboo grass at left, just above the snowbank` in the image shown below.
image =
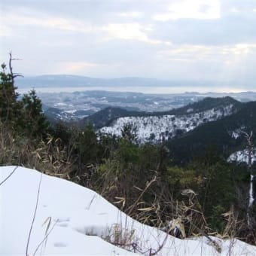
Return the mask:
[[0,124],[0,164],[25,166],[70,179],[71,151],[52,136],[48,136],[46,141],[26,139],[14,136],[11,129]]

